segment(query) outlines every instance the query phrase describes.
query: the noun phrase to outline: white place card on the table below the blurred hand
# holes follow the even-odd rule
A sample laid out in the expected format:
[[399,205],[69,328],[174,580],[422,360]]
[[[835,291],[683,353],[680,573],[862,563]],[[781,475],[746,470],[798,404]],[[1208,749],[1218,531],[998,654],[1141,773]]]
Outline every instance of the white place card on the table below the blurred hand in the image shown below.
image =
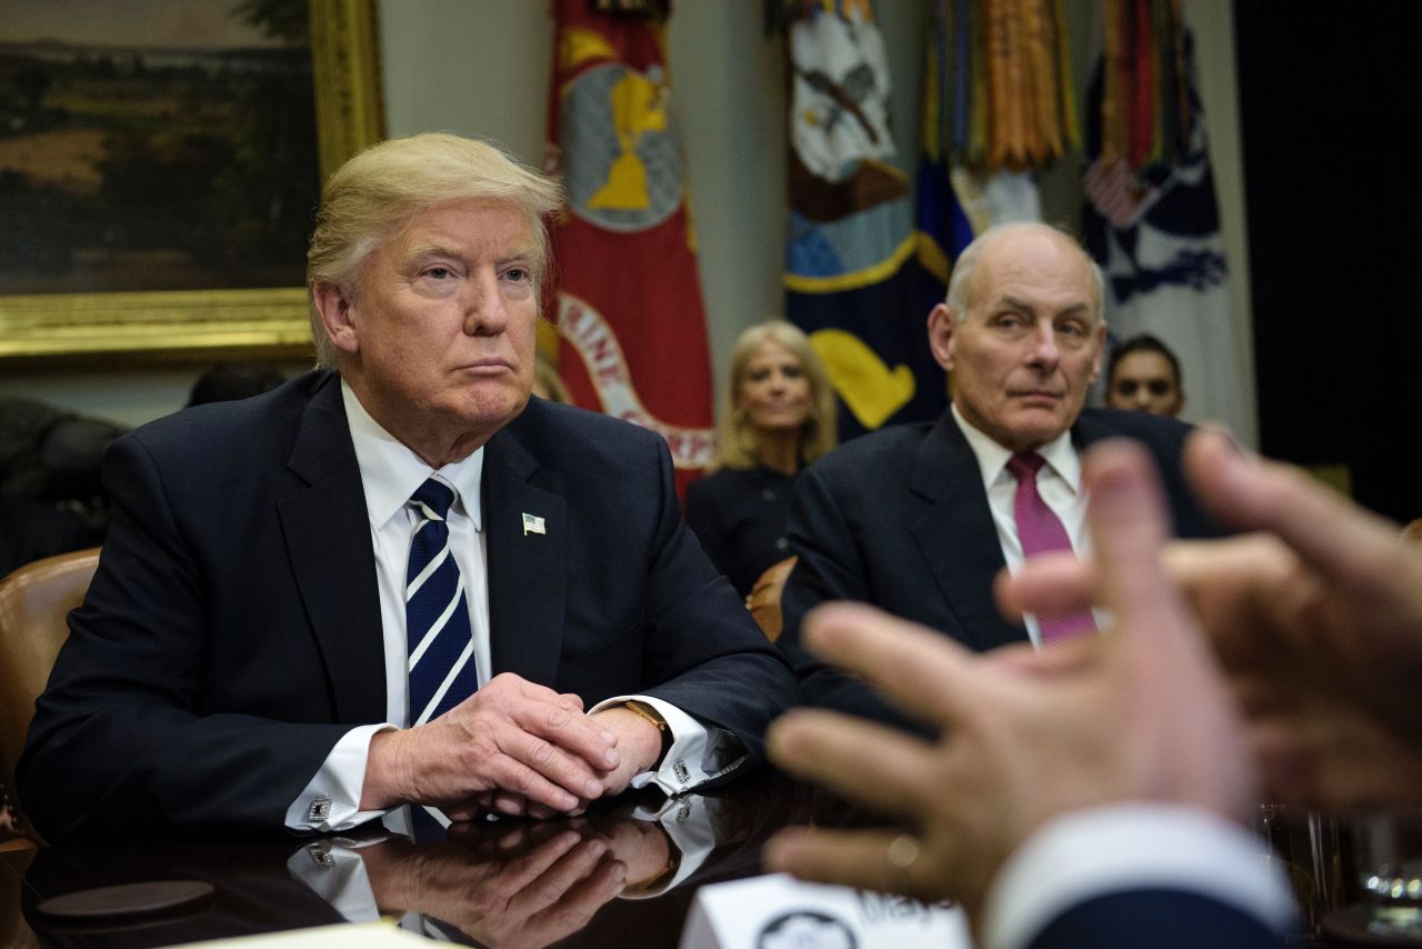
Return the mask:
[[805,884],[788,874],[712,884],[697,891],[681,949],[971,949],[967,916],[849,886]]

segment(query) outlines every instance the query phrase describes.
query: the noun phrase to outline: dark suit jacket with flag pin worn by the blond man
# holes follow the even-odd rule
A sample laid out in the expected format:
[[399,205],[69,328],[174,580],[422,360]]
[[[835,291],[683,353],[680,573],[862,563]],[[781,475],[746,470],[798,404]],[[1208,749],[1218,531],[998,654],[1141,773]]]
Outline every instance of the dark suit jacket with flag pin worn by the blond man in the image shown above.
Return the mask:
[[[152,423],[105,482],[109,539],[37,706],[23,805],[51,838],[280,832],[336,741],[385,720],[340,380]],[[493,673],[589,707],[661,697],[762,758],[795,683],[681,524],[660,437],[532,400],[489,440],[482,491]]]

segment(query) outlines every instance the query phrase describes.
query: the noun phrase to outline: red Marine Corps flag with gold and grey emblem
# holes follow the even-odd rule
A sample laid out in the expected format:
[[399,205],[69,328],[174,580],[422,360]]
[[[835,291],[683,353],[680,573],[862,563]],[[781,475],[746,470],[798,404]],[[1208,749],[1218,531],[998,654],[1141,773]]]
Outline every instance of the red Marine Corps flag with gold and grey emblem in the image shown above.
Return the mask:
[[705,313],[661,13],[555,0],[549,165],[559,370],[577,404],[661,433],[683,489],[715,450]]

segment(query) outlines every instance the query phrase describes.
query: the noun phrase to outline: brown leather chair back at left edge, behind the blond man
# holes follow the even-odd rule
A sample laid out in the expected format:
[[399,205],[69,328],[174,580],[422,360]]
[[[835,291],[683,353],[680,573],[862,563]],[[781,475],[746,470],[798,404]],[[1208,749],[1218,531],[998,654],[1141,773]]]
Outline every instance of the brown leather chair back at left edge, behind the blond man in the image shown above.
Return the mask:
[[84,602],[98,548],[21,566],[0,580],[0,783],[9,790],[16,829],[38,839],[14,800],[14,763],[34,717],[34,700],[50,680],[70,635],[70,610]]

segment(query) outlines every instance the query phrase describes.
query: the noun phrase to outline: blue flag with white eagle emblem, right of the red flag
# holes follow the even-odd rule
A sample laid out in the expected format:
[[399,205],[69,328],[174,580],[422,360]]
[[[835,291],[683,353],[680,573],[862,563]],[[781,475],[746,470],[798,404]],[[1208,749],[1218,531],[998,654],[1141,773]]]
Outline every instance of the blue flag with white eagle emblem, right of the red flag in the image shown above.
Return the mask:
[[909,178],[890,164],[889,63],[869,0],[799,4],[789,24],[786,314],[811,339],[849,438],[947,405],[926,319],[943,283],[916,256]]

